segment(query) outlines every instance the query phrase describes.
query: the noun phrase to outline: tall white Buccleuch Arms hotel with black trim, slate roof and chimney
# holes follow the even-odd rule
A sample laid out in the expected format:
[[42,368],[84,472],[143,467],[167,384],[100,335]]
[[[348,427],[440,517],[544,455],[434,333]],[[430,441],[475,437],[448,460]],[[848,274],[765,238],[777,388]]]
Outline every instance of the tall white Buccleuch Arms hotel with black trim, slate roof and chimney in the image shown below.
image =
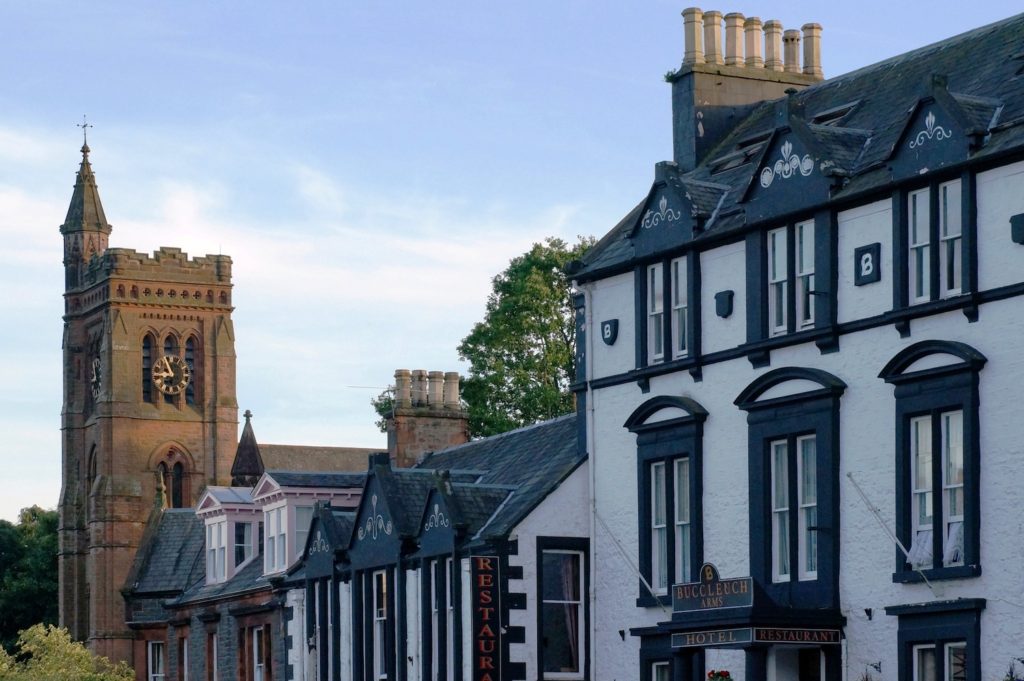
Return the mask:
[[573,272],[596,677],[1001,678],[1024,14],[829,80],[683,14],[674,161]]

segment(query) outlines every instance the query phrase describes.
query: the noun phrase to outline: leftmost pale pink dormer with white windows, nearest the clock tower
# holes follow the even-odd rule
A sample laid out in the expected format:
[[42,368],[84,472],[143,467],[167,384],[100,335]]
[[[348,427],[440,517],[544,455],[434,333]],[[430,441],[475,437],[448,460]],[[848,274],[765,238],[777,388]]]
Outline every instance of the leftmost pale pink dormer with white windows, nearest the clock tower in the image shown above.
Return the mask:
[[260,508],[246,487],[210,486],[196,506],[206,536],[206,583],[219,584],[259,555]]

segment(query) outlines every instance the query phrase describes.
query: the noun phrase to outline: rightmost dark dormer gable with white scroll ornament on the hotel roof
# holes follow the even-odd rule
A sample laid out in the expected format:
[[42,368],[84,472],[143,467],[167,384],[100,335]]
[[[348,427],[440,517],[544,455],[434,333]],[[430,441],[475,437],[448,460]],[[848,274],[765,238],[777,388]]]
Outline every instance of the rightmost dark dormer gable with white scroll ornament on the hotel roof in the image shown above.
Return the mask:
[[906,179],[966,161],[984,143],[1000,102],[949,92],[943,76],[907,111],[903,130],[889,155],[894,180]]

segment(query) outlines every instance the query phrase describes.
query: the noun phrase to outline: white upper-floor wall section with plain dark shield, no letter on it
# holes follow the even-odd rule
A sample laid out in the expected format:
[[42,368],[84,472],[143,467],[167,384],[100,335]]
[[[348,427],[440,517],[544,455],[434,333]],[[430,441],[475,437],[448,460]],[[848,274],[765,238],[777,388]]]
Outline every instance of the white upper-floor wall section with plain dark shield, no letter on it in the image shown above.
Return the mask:
[[[746,341],[746,248],[743,242],[700,254],[701,350],[727,350]],[[715,312],[715,294],[732,291],[732,314]]]

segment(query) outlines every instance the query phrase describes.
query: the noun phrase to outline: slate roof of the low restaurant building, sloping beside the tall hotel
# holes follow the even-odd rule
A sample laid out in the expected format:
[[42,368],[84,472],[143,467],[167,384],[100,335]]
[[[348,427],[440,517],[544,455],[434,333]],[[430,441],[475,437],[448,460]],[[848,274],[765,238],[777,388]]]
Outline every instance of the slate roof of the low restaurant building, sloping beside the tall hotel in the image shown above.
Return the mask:
[[[418,467],[427,469],[482,470],[479,484],[495,485],[493,492],[462,494],[453,485],[464,514],[482,521],[481,539],[507,535],[538,504],[550,495],[587,458],[577,442],[577,417],[568,415],[486,437],[428,455]],[[497,485],[510,492],[506,499]],[[469,485],[467,485],[469,486]],[[465,503],[467,508],[463,507]],[[497,502],[497,504],[496,504]],[[475,514],[475,515],[474,515]]]

